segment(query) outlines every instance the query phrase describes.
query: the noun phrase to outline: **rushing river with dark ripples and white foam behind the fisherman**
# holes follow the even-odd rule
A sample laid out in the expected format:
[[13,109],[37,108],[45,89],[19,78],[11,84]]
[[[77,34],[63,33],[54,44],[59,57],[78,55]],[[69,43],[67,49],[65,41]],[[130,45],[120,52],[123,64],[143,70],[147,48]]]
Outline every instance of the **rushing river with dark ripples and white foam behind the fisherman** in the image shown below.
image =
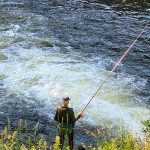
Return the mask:
[[51,120],[62,96],[78,114],[147,26],[77,123],[142,135],[150,118],[149,20],[148,1],[0,0],[0,115],[11,118],[6,104],[24,101]]

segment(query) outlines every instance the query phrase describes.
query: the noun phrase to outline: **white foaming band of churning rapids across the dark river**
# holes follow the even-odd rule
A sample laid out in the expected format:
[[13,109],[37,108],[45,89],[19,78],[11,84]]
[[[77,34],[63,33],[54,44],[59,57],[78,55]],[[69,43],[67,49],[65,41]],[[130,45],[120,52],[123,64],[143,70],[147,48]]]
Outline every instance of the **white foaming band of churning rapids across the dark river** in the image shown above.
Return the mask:
[[[101,58],[97,63],[96,58],[85,58],[73,52],[69,44],[64,44],[69,53],[63,53],[63,48],[56,46],[61,41],[38,37],[31,28],[28,29],[38,18],[44,24],[44,18],[29,16],[24,16],[26,24],[23,26],[11,24],[6,31],[0,30],[3,88],[16,97],[27,97],[31,101],[35,98],[44,105],[42,111],[49,117],[53,117],[49,112],[64,95],[71,97],[70,105],[75,113],[80,112],[109,73],[103,66],[105,60]],[[43,25],[42,29],[45,28]],[[37,27],[37,30],[41,29]],[[149,118],[150,111],[136,105],[135,80],[133,75],[113,73],[79,123],[125,126],[133,133],[142,134],[141,121]],[[145,85],[145,82],[138,84]]]

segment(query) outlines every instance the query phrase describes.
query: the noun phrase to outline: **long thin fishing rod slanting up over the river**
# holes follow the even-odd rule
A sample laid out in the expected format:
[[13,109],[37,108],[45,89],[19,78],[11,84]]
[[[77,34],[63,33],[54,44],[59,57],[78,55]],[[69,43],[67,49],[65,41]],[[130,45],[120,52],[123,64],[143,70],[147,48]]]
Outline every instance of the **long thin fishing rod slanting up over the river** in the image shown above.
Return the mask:
[[88,107],[88,105],[90,104],[90,102],[93,100],[93,98],[96,96],[96,94],[99,92],[99,90],[103,87],[103,85],[105,84],[105,82],[110,78],[112,72],[114,72],[114,70],[116,69],[116,67],[121,63],[121,61],[123,60],[123,58],[127,55],[127,53],[130,51],[130,49],[133,47],[133,45],[136,43],[136,41],[138,40],[138,38],[142,35],[142,33],[145,31],[147,26],[145,26],[145,28],[140,32],[140,34],[136,37],[136,39],[133,41],[133,43],[129,46],[129,48],[125,51],[125,53],[121,56],[121,58],[119,59],[119,61],[116,63],[116,65],[113,67],[113,69],[109,72],[108,76],[106,77],[106,79],[102,82],[102,84],[100,85],[100,87],[96,90],[96,92],[93,94],[93,96],[91,97],[91,99],[89,100],[89,102],[85,105],[85,107],[83,108],[83,110],[81,111],[81,113],[84,112],[84,110]]

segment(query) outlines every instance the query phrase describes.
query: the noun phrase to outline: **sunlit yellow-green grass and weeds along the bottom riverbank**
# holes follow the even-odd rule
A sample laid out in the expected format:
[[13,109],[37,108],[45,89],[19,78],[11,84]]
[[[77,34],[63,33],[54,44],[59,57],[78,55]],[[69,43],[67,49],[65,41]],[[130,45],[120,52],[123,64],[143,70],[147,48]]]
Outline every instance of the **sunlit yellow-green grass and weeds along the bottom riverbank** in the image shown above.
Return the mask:
[[[131,133],[120,131],[117,137],[98,141],[97,146],[81,144],[86,150],[150,150],[150,120],[143,122],[145,139],[133,137]],[[10,125],[6,126],[0,134],[0,150],[59,150],[59,137],[56,136],[55,143],[49,144],[37,134],[39,123],[34,130],[29,132],[26,123],[12,131]],[[68,146],[64,150],[69,150]]]

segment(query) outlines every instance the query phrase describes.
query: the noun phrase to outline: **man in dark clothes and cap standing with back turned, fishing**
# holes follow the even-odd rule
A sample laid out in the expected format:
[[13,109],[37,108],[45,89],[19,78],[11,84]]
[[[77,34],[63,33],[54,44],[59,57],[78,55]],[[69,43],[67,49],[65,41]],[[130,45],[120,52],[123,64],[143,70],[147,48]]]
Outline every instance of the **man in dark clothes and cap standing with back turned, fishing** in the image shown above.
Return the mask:
[[75,122],[83,116],[83,113],[80,113],[77,117],[74,115],[73,108],[68,107],[70,98],[62,98],[63,106],[57,108],[54,119],[58,122],[58,132],[60,137],[60,147],[62,149],[65,135],[67,135],[69,140],[70,149],[73,150],[73,128]]

